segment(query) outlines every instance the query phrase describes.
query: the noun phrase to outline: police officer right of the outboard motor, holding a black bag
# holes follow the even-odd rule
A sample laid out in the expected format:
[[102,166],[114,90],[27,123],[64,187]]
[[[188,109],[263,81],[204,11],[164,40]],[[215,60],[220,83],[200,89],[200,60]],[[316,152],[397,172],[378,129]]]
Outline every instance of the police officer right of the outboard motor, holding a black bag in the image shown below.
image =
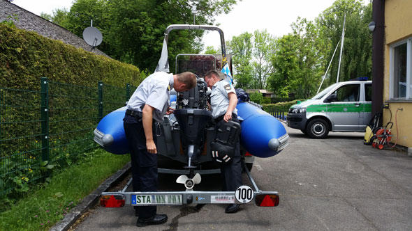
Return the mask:
[[[212,106],[212,117],[216,123],[224,120],[228,122],[237,120],[237,96],[235,88],[226,80],[221,80],[219,72],[211,70],[205,74],[205,82],[212,89],[210,104]],[[221,176],[223,178],[223,191],[236,191],[242,185],[242,165],[240,157],[240,141],[237,138],[235,154],[232,161],[221,165]],[[239,211],[240,205],[231,204],[226,207],[226,213]]]

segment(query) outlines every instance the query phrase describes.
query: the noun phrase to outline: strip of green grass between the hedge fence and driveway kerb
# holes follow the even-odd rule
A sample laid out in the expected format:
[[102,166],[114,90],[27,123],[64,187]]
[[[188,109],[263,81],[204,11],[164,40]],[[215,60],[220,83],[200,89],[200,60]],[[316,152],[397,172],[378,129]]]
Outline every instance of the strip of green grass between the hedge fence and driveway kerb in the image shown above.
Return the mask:
[[84,196],[122,168],[129,155],[115,155],[98,149],[89,152],[80,164],[54,173],[50,183],[32,189],[0,213],[0,230],[49,230]]

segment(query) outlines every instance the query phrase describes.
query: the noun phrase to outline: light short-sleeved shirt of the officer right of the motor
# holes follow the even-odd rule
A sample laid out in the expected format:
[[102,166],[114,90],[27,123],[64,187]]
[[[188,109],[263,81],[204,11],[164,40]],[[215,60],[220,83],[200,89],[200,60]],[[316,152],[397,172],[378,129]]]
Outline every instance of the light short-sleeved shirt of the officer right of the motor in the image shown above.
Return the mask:
[[[218,118],[226,113],[229,106],[229,93],[235,93],[235,88],[226,80],[218,81],[212,86],[212,94],[210,95],[210,104],[212,106],[212,117]],[[237,115],[237,109],[233,110]]]

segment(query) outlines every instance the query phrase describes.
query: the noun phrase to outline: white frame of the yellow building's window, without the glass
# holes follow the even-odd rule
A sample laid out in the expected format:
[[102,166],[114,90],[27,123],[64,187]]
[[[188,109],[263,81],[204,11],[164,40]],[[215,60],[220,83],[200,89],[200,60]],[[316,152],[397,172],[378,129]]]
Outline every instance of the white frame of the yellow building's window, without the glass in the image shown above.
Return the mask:
[[[399,45],[406,45],[406,97],[399,98],[394,97],[394,84],[395,84],[395,47]],[[406,38],[405,40],[395,42],[394,44],[390,45],[389,50],[389,58],[390,58],[390,66],[389,66],[389,98],[390,100],[411,100],[412,101],[412,91],[411,91],[411,84],[412,84],[412,37]]]

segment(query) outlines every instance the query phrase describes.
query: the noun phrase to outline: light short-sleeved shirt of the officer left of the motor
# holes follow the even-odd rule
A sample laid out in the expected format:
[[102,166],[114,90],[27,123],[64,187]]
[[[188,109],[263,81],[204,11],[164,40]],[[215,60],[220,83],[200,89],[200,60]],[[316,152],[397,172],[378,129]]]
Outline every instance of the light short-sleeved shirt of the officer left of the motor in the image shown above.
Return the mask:
[[154,72],[144,79],[135,90],[127,103],[127,108],[133,111],[142,111],[145,104],[154,107],[153,119],[163,121],[168,105],[169,90],[173,87],[173,74]]

